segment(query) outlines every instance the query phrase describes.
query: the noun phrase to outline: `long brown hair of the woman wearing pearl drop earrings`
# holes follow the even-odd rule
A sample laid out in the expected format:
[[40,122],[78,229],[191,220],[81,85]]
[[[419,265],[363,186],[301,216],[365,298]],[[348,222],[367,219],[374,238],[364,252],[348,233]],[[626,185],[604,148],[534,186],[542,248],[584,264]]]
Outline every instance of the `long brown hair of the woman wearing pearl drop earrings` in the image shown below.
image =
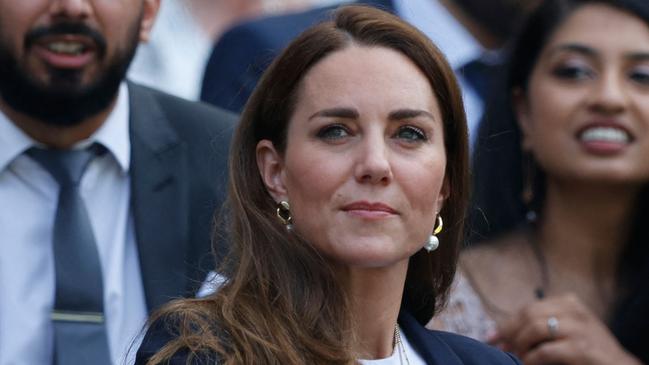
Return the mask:
[[[407,56],[428,78],[444,120],[446,179],[441,211],[446,229],[434,253],[410,258],[402,310],[426,323],[455,274],[468,193],[468,146],[460,89],[443,54],[414,27],[384,11],[344,6],[332,20],[296,38],[261,78],[243,111],[230,151],[227,227],[229,254],[219,268],[228,278],[212,296],[173,302],[152,323],[174,339],[149,364],[174,354],[219,364],[354,364],[354,331],[343,286],[320,254],[275,216],[256,163],[260,140],[286,148],[288,121],[305,74],[351,45],[386,47]],[[422,244],[423,245],[423,244]]]

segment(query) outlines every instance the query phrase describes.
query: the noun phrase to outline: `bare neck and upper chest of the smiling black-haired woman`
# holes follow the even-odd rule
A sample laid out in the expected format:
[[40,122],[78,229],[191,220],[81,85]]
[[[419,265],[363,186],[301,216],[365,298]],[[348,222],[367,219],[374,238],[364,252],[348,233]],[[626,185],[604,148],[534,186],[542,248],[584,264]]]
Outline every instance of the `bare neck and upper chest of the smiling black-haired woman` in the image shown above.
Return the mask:
[[640,187],[548,182],[536,240],[552,293],[573,292],[605,318]]

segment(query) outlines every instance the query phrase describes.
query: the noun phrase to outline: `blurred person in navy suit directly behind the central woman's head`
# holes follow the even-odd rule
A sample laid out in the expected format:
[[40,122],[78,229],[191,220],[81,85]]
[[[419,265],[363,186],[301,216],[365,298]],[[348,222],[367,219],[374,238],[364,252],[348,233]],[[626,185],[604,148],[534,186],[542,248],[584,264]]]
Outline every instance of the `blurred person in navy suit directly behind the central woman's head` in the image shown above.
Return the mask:
[[[360,0],[399,15],[419,28],[447,56],[462,87],[474,135],[484,109],[487,78],[497,52],[524,12],[537,0]],[[261,74],[293,38],[327,18],[336,7],[242,23],[215,44],[203,77],[201,100],[241,111]],[[478,60],[479,62],[476,62]]]

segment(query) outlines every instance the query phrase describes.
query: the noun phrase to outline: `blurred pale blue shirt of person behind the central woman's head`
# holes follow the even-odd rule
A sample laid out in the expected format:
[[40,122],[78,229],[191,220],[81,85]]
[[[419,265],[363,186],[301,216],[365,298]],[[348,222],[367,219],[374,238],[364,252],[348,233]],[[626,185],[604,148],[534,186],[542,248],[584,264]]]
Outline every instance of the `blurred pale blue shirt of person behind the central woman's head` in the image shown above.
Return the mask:
[[473,142],[484,112],[484,101],[458,70],[481,58],[487,51],[437,0],[394,0],[394,7],[403,20],[417,27],[437,45],[455,70],[462,88],[469,137]]

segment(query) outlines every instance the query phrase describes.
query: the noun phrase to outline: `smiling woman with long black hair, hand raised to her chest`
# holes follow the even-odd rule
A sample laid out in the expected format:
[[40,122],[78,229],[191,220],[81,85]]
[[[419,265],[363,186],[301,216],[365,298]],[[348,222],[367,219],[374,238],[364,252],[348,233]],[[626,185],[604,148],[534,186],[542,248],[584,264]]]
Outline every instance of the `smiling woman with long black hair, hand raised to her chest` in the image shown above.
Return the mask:
[[431,326],[525,364],[647,363],[649,2],[546,0],[510,57],[476,149],[478,244]]

